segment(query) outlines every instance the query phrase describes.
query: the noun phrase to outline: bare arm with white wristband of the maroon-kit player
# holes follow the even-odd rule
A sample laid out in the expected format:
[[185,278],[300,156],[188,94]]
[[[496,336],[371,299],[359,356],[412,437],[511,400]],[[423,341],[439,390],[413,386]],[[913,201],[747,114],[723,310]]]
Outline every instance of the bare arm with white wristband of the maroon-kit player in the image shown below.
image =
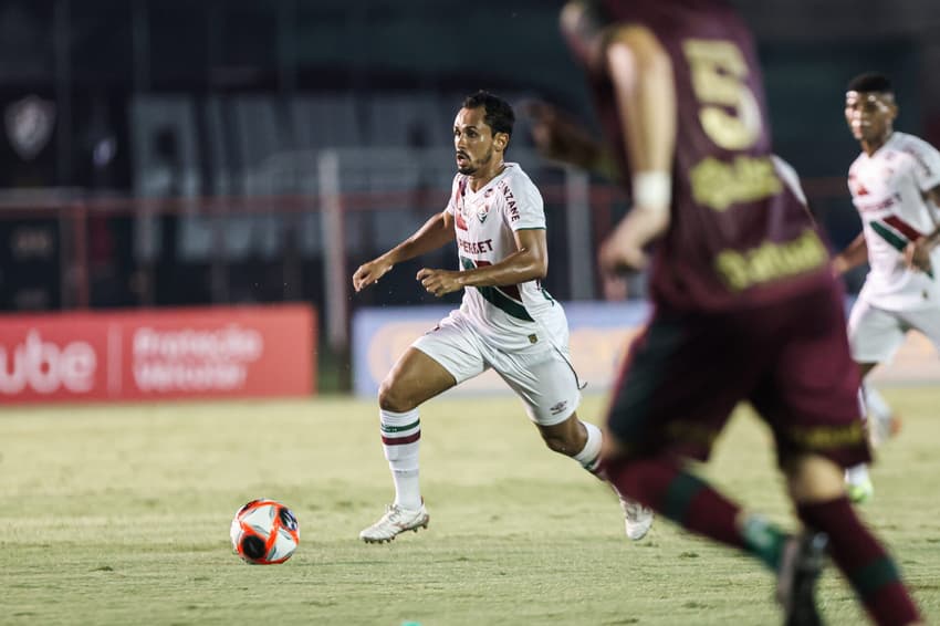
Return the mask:
[[605,60],[614,83],[630,163],[634,207],[600,248],[607,271],[646,265],[643,248],[669,227],[676,150],[672,63],[645,27],[618,28],[606,36]]

